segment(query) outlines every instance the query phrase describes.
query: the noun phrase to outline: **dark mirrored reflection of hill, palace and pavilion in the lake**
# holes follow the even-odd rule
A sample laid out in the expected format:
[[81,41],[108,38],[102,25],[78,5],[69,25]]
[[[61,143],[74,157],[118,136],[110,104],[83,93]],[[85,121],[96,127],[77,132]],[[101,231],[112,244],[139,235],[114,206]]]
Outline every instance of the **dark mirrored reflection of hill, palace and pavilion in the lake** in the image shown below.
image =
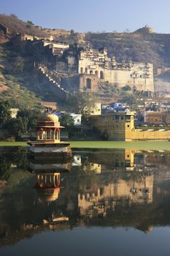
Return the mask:
[[26,151],[0,157],[1,246],[48,229],[170,224],[169,152],[78,153],[72,163],[29,162]]

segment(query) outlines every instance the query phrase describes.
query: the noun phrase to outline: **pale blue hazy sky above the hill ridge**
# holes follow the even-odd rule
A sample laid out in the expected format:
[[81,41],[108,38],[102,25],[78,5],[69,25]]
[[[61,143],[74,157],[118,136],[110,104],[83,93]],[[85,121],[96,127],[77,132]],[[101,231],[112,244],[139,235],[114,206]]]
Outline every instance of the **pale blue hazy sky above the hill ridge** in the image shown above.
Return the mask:
[[170,0],[0,0],[0,13],[51,29],[170,33]]

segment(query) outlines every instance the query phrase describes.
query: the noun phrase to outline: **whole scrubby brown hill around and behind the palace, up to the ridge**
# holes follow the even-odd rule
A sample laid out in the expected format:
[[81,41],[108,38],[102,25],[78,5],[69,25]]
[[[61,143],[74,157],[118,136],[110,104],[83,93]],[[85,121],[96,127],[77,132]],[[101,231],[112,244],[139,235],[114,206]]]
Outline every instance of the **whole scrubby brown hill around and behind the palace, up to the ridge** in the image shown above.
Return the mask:
[[[7,26],[7,37],[9,38],[13,38],[12,35],[18,33],[36,37],[52,35],[55,36],[55,40],[69,42],[69,44],[76,42],[79,46],[90,44],[93,48],[107,48],[108,55],[114,55],[117,61],[131,59],[136,62],[150,62],[154,65],[155,91],[170,93],[170,72],[166,72],[166,69],[162,68],[170,67],[170,34],[144,31],[145,27],[134,33],[89,32],[86,34],[60,29],[42,29],[34,26],[31,21],[24,22],[18,19],[15,15],[0,15],[0,24]],[[24,43],[21,46],[21,44],[16,45],[13,42],[0,45],[0,99],[11,98],[14,106],[22,105],[24,101],[30,99],[30,108],[31,105],[39,104],[41,99],[60,100],[60,98],[56,99],[56,95],[49,88],[47,81],[34,67],[35,62],[41,63],[44,59],[45,48],[40,49],[29,44],[26,46]],[[68,83],[71,85],[70,82]],[[98,95],[106,93],[106,97],[109,97],[110,94],[116,96],[125,92],[115,93],[112,88],[102,85]],[[17,99],[12,98],[13,94],[15,97],[17,96]]]

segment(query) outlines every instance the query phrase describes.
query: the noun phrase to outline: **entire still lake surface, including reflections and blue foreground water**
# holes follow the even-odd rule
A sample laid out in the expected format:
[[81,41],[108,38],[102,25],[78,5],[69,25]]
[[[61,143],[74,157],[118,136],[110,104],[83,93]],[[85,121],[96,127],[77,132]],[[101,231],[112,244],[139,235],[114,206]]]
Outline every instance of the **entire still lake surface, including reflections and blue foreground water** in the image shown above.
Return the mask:
[[170,152],[0,153],[0,255],[170,255]]

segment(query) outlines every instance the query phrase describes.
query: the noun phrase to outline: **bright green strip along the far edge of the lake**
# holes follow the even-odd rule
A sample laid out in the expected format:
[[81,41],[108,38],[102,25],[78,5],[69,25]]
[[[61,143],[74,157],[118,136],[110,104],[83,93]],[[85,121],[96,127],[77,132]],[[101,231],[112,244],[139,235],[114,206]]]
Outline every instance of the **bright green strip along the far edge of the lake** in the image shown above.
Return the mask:
[[[138,148],[169,150],[169,141],[71,141],[72,148]],[[26,142],[0,142],[0,146],[27,146]]]

